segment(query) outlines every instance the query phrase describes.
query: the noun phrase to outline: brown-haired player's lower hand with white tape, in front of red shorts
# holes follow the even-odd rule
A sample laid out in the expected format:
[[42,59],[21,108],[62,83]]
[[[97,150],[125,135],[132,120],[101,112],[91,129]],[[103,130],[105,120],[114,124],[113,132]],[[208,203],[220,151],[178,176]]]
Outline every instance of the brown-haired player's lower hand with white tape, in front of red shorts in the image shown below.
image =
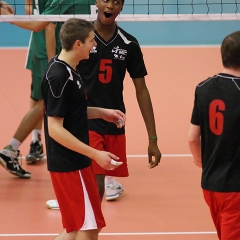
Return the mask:
[[105,152],[105,151],[98,151],[97,155],[95,156],[94,160],[105,170],[114,170],[120,165],[122,162],[119,161],[119,157],[116,155]]

